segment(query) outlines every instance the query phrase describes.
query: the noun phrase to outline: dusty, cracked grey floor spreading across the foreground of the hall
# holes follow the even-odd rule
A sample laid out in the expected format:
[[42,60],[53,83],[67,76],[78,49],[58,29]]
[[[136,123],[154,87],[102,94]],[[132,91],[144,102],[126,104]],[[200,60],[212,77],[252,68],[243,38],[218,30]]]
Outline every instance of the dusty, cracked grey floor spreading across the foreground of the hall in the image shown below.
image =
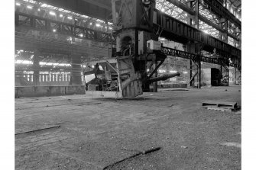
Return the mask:
[[[241,169],[241,111],[202,107],[205,100],[241,105],[240,91],[165,89],[117,101],[17,98],[15,168]],[[37,131],[24,133],[31,130]],[[160,150],[139,154],[155,147]]]

